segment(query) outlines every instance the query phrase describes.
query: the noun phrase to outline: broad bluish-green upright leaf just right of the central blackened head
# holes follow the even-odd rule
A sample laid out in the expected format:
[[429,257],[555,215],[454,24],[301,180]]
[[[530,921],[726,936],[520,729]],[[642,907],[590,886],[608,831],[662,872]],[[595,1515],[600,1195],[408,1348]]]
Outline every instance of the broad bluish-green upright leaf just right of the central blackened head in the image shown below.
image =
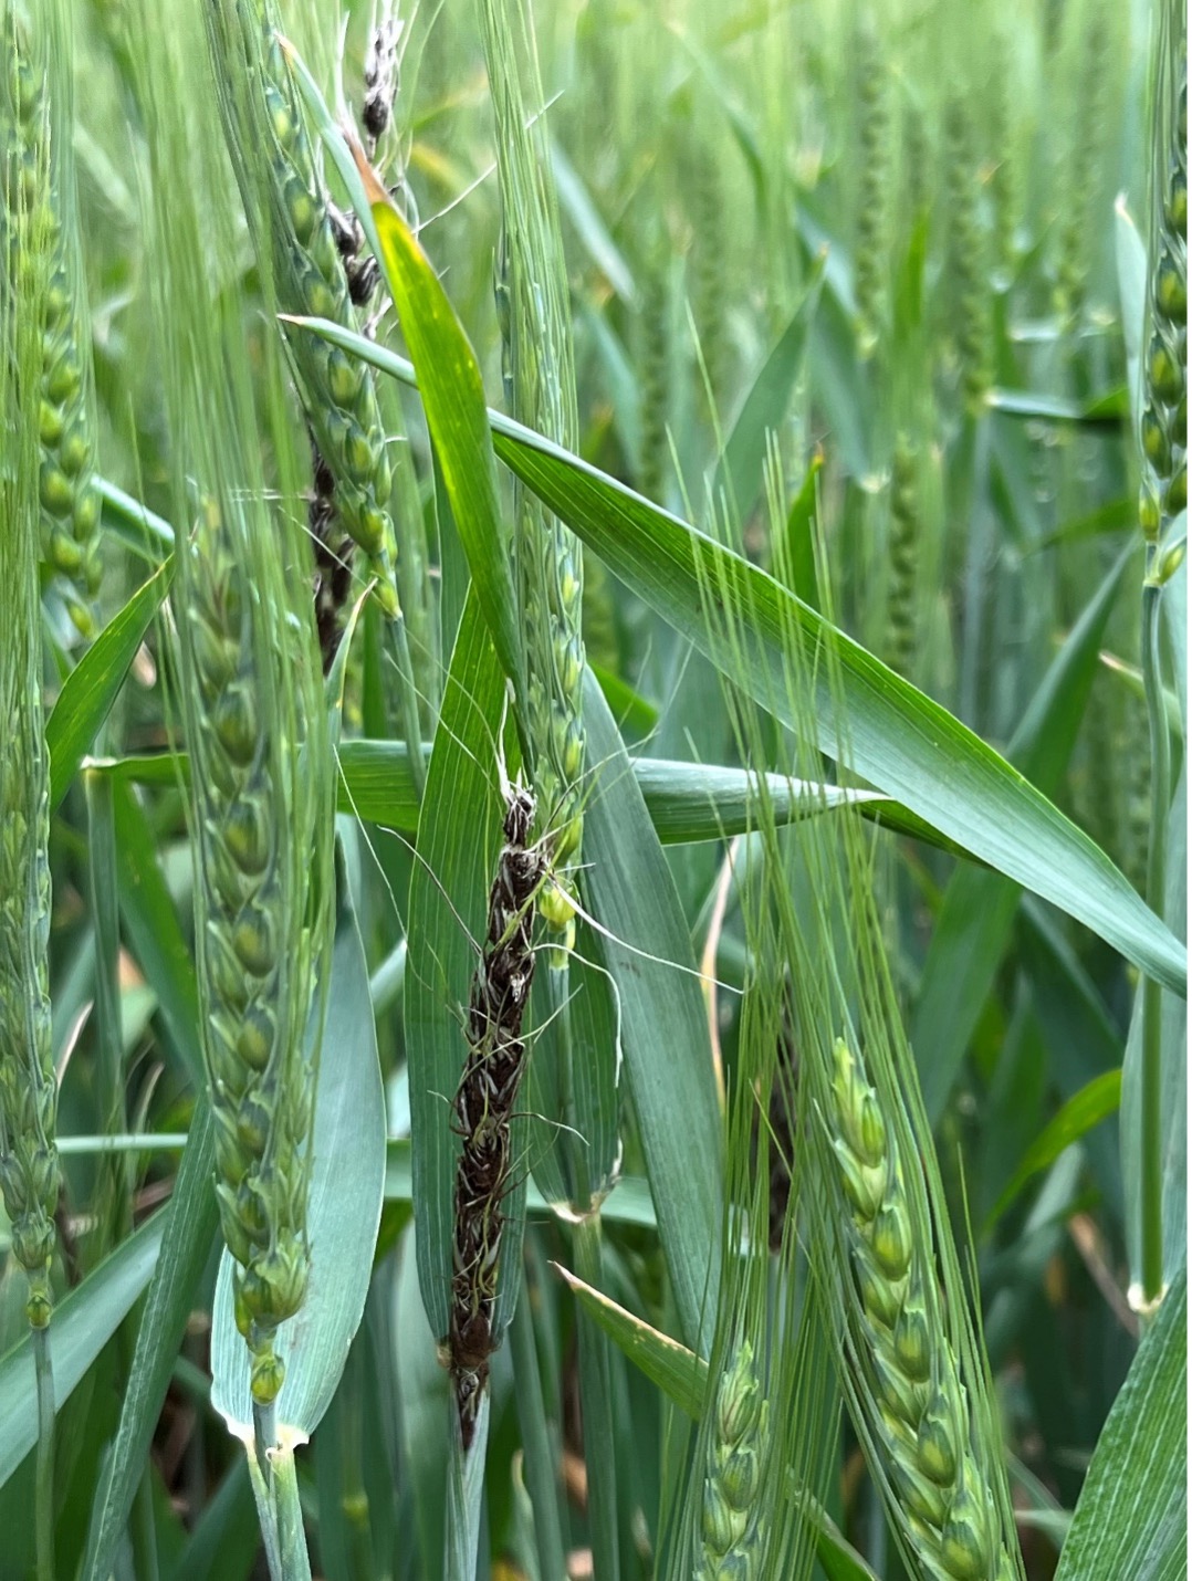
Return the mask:
[[[721,1249],[721,1115],[691,934],[617,726],[596,680],[583,691],[588,762],[583,895],[621,1013],[624,1077],[645,1154],[680,1331],[710,1345]],[[700,1167],[692,1170],[697,1157]]]

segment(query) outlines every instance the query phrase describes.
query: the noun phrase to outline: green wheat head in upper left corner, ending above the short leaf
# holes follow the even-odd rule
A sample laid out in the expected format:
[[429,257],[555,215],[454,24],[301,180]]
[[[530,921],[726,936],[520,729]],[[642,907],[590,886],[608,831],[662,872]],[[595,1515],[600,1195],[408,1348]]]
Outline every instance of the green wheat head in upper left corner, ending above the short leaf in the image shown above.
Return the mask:
[[[5,84],[0,133],[13,150],[3,225],[9,264],[38,275],[41,373],[36,413],[41,466],[41,558],[62,579],[84,636],[87,601],[100,590],[100,495],[95,489],[95,411],[90,326],[82,289],[71,155],[70,60],[52,21],[35,36],[11,5],[0,13]],[[49,47],[52,44],[52,47]],[[51,65],[46,65],[46,60]],[[17,269],[6,277],[17,278]]]

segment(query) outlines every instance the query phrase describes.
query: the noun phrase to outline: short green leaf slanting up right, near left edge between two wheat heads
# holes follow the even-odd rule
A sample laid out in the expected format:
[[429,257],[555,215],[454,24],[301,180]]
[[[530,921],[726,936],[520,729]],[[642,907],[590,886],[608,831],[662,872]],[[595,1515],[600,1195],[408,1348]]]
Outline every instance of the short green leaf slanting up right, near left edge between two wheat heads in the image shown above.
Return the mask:
[[54,711],[46,719],[51,811],[62,805],[79,764],[108,718],[128,666],[169,591],[172,574],[174,561],[168,560],[138,588],[120,613],[108,621],[63,681]]

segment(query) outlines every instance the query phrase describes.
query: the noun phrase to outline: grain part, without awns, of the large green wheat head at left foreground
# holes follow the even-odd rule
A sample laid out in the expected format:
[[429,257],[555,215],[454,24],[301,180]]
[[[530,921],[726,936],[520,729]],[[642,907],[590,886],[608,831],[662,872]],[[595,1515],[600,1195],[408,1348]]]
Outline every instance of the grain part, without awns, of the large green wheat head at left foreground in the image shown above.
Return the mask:
[[259,1404],[281,1388],[273,1336],[307,1287],[305,1037],[332,805],[316,664],[270,563],[275,539],[259,501],[221,490],[185,549],[179,599],[217,1195]]

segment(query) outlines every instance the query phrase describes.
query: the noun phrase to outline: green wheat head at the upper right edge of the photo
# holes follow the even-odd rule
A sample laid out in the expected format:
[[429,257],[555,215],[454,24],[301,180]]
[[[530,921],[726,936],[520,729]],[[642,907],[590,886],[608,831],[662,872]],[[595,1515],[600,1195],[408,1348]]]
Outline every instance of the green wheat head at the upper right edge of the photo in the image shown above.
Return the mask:
[[1154,84],[1151,277],[1143,354],[1138,515],[1148,541],[1187,504],[1187,43],[1165,5]]

